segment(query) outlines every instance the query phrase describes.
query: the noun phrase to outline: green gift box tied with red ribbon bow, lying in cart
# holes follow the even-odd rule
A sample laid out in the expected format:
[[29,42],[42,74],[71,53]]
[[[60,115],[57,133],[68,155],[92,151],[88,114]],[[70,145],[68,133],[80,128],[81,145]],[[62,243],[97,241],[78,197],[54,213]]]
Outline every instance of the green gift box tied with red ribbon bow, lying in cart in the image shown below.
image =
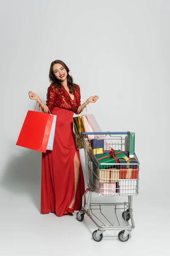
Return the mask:
[[110,151],[110,153],[96,155],[96,159],[99,162],[99,169],[106,169],[111,166],[115,166],[118,163],[118,159],[125,157],[125,154],[121,150]]

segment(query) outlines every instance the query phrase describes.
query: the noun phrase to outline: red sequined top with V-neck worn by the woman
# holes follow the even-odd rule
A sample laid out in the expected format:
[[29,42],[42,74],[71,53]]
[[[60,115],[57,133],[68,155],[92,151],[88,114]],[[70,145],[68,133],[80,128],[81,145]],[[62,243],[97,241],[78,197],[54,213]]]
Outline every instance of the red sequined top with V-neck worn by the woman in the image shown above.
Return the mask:
[[74,92],[74,100],[71,99],[63,85],[61,89],[55,88],[54,84],[51,84],[48,87],[46,105],[48,106],[51,113],[54,107],[59,107],[72,110],[74,113],[78,114],[77,110],[81,105],[81,95],[79,85],[75,85],[77,86],[77,89]]

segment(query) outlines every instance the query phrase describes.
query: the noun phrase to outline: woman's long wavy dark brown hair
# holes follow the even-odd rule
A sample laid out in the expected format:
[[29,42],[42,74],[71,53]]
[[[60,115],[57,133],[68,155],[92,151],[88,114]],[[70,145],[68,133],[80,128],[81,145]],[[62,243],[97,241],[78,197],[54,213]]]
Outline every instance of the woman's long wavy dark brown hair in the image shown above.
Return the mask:
[[57,79],[56,76],[54,76],[54,72],[53,72],[53,66],[54,66],[54,64],[57,64],[57,63],[61,64],[65,68],[65,70],[67,71],[67,85],[68,85],[68,88],[70,90],[70,93],[73,94],[77,87],[73,83],[72,76],[69,75],[69,71],[70,71],[69,68],[67,67],[67,65],[63,61],[56,60],[56,61],[53,61],[51,63],[50,72],[49,72],[49,79],[50,79],[51,84],[55,84],[56,88],[61,89],[61,87],[62,87],[61,81],[59,79]]

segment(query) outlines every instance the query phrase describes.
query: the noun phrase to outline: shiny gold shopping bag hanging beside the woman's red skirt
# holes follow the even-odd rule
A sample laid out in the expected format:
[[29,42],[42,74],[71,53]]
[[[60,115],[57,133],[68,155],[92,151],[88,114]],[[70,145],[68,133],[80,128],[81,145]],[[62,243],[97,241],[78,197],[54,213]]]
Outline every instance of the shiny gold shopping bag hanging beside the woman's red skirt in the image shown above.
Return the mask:
[[76,138],[76,148],[77,149],[83,148],[81,132],[85,131],[85,127],[82,120],[82,116],[73,117],[73,124],[74,124],[74,134]]

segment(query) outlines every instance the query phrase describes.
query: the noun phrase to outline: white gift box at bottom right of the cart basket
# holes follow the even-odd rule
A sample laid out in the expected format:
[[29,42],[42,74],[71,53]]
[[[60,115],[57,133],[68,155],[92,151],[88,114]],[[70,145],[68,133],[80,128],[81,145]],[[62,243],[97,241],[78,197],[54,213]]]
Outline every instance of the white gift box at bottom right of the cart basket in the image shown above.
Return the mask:
[[120,195],[134,195],[137,193],[137,180],[122,179],[118,183],[118,193]]

